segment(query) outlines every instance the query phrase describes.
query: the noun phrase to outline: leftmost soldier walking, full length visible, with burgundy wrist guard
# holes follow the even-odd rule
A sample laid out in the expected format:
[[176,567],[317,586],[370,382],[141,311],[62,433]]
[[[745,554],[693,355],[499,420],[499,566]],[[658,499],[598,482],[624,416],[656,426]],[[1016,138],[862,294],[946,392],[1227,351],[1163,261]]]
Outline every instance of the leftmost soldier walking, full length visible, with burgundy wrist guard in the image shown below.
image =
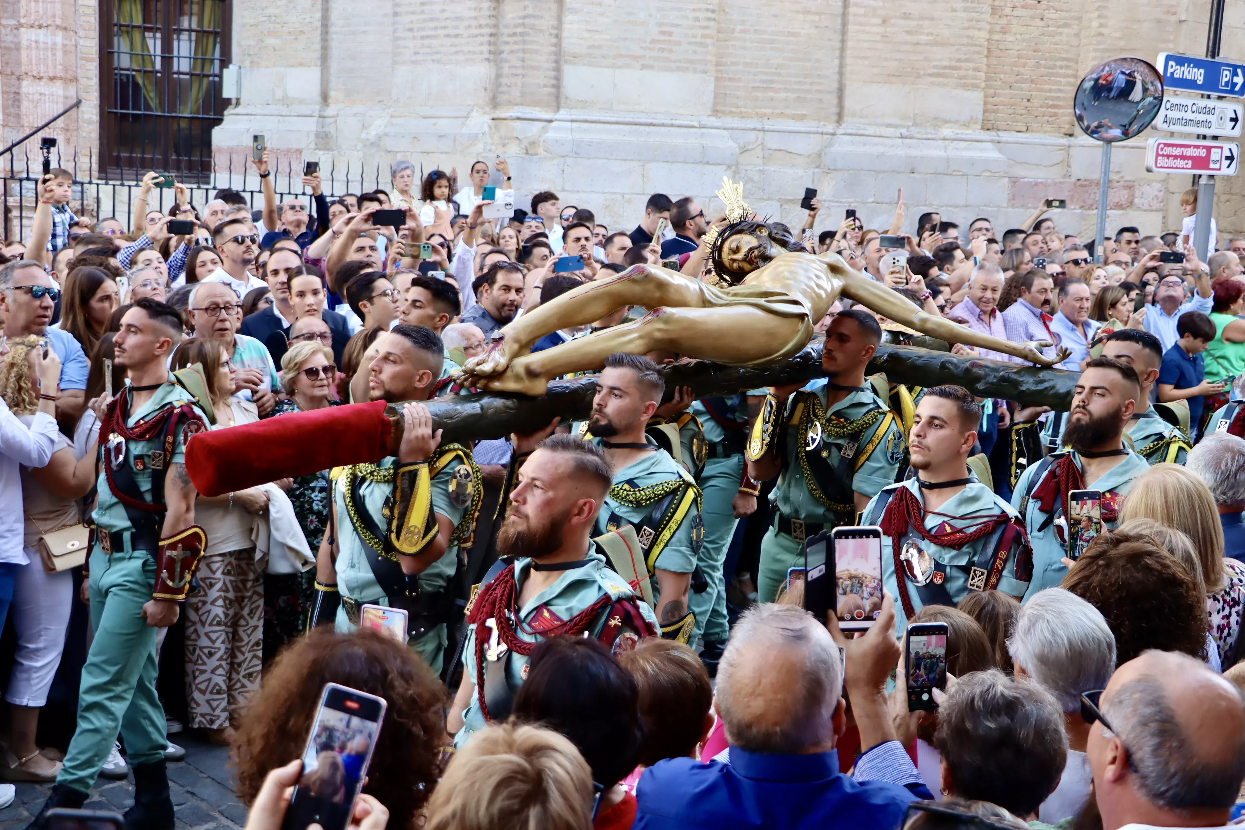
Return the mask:
[[108,403],[100,429],[102,472],[82,586],[95,638],[82,667],[77,730],[35,826],[46,824],[47,809],[82,806],[120,732],[134,770],[126,828],[173,828],[156,632],[177,621],[207,546],[183,463],[187,439],[210,417],[168,372],[181,338],[177,310],[143,297],[113,340],[132,385]]

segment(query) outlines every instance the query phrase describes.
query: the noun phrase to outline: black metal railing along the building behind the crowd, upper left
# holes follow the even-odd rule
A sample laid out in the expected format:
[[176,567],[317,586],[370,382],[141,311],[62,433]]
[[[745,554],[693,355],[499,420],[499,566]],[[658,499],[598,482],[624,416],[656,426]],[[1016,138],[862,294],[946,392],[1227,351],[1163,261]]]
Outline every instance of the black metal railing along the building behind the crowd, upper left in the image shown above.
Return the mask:
[[[249,151],[217,152],[212,161],[212,178],[207,184],[187,183],[190,204],[202,213],[203,205],[210,202],[218,189],[230,188],[247,198],[253,210],[264,207],[264,194],[260,189],[259,174],[251,166]],[[65,156],[60,148],[51,152],[51,166],[70,170],[73,174],[73,194],[70,209],[78,217],[88,217],[93,221],[116,218],[131,229],[133,203],[138,195],[141,182],[105,180],[98,168],[98,157],[93,151],[83,154],[73,151]],[[308,159],[311,161],[311,159]],[[4,198],[4,238],[27,239],[30,223],[37,205],[36,189],[42,175],[42,154],[37,137],[12,147],[0,156]],[[291,161],[276,154],[270,161],[273,185],[278,202],[291,195],[310,199],[310,190],[303,187],[303,161]],[[422,166],[421,166],[422,167]],[[162,170],[157,170],[162,172]],[[421,173],[422,174],[422,173]],[[364,164],[362,162],[342,161],[336,157],[321,162],[320,177],[324,193],[331,202],[337,195],[365,193],[382,188],[391,189],[388,167]],[[148,197],[151,210],[164,212],[176,202],[173,188],[153,188]],[[310,205],[314,209],[314,205]]]

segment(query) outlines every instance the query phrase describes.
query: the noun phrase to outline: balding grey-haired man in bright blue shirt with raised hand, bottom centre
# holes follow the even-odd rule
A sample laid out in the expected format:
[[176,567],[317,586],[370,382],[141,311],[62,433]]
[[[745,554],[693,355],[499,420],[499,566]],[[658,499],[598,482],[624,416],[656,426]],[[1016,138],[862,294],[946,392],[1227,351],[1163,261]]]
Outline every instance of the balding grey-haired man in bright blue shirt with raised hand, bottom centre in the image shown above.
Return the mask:
[[[672,758],[646,769],[635,830],[893,830],[910,801],[930,798],[886,706],[884,687],[900,655],[894,601],[888,594],[862,638],[843,638],[833,615],[830,625],[834,638],[792,605],[743,615],[722,655],[715,698],[730,762]],[[864,750],[852,775],[839,772],[834,749],[847,729],[844,687]]]

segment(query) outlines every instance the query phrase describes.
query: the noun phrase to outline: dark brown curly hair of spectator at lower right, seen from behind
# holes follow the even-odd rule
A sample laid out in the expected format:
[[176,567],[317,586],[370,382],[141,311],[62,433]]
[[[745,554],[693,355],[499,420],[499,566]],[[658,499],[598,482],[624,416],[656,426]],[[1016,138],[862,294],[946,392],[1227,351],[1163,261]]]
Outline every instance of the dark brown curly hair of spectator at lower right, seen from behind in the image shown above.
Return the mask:
[[1108,530],[1091,543],[1059,587],[1098,609],[1123,666],[1147,648],[1203,658],[1206,599],[1175,556],[1149,536]]

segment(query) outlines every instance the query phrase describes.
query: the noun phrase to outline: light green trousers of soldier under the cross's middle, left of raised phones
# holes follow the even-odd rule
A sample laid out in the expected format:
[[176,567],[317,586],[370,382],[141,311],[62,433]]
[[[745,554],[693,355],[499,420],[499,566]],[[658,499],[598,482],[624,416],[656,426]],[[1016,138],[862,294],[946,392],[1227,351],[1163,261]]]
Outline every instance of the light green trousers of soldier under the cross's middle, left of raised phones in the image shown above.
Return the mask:
[[702,635],[705,640],[725,641],[731,632],[726,618],[726,579],[722,575],[722,564],[726,561],[726,551],[731,548],[735,526],[740,524],[731,501],[740,492],[742,475],[743,455],[710,458],[701,472],[698,483],[701,493],[705,494],[701,506],[705,544],[701,545],[696,564],[708,580],[708,590],[703,594],[692,591],[687,600],[688,607],[696,615],[696,627],[692,630],[691,640],[693,645]]

